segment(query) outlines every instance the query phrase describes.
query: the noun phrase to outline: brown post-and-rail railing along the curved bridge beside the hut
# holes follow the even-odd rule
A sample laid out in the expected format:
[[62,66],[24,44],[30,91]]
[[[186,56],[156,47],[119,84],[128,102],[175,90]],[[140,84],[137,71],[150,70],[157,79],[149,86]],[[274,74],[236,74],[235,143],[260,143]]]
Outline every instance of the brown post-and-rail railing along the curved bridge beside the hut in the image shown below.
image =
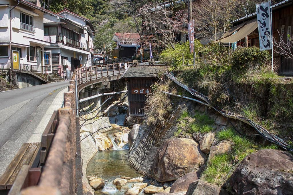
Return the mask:
[[82,67],[75,70],[77,86],[80,84],[104,77],[123,74],[132,62]]

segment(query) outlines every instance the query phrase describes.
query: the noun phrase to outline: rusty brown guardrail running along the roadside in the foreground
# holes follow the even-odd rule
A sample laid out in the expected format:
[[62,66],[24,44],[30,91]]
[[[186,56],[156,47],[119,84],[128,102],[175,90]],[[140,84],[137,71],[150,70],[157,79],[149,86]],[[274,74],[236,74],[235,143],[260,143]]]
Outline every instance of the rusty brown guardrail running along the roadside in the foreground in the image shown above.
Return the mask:
[[[44,165],[40,174],[38,185],[21,190],[22,195],[37,194],[80,194],[82,192],[82,180],[76,179],[81,171],[81,161],[78,157],[77,145],[79,145],[79,117],[76,116],[75,81],[70,81],[68,92],[64,93],[64,108],[55,111],[42,135],[42,150],[40,165]],[[80,154],[79,154],[80,155]],[[28,167],[23,167],[28,169]],[[30,181],[28,171],[17,176],[18,185]],[[81,175],[81,173],[80,173]],[[35,178],[34,178],[35,179]],[[80,182],[80,183],[79,183]],[[79,184],[78,184],[79,183]],[[10,195],[19,194],[19,190],[11,191]],[[79,193],[77,193],[79,191]]]

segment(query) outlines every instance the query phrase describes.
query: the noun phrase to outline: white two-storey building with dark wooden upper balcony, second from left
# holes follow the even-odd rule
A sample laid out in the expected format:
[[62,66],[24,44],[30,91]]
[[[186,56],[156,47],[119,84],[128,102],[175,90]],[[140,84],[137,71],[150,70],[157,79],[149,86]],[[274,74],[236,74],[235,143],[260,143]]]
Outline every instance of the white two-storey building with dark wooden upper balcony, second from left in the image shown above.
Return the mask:
[[55,15],[45,14],[44,40],[51,43],[45,46],[45,62],[51,54],[54,72],[91,66],[93,31],[90,20],[66,9]]

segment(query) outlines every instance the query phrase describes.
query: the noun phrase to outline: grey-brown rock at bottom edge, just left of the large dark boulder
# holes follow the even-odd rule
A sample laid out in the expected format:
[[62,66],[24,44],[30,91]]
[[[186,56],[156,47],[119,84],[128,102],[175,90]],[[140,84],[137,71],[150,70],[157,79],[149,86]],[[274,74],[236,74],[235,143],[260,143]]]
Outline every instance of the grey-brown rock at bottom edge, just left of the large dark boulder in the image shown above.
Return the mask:
[[189,185],[186,195],[219,195],[220,191],[218,186],[198,179]]

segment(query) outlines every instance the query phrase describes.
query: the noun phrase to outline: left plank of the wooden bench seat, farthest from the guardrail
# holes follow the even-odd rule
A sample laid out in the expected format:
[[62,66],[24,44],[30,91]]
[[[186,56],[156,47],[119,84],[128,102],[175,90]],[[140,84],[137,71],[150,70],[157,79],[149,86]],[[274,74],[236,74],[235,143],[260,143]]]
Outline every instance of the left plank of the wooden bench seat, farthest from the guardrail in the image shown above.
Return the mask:
[[25,154],[25,151],[28,149],[29,146],[30,146],[30,143],[24,143],[21,146],[21,148],[18,150],[18,153],[14,156],[13,160],[10,162],[4,174],[0,178],[0,189],[6,189],[6,184],[8,180],[10,179],[11,175],[14,173],[14,170],[16,169],[17,165],[21,161],[23,155]]

